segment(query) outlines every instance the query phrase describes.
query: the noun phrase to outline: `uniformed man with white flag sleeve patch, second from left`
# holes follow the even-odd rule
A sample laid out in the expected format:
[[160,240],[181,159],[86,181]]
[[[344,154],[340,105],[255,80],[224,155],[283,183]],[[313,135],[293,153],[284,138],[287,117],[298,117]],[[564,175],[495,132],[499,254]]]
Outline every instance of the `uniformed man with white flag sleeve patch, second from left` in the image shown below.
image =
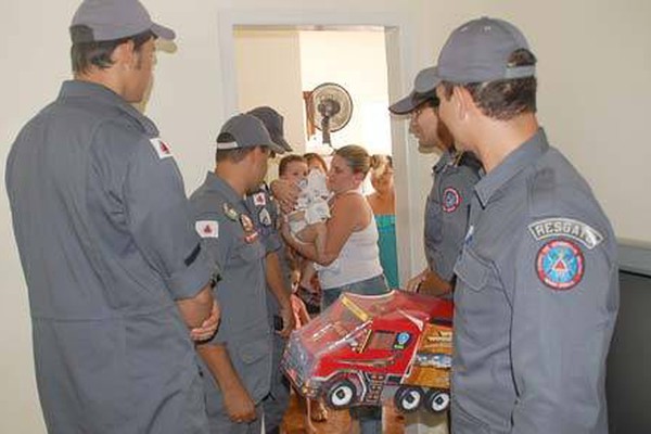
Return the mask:
[[245,194],[260,184],[277,150],[257,118],[230,118],[217,138],[215,171],[190,199],[202,244],[224,270],[216,292],[221,324],[199,349],[212,433],[258,434],[261,429],[260,404],[271,379],[266,250]]

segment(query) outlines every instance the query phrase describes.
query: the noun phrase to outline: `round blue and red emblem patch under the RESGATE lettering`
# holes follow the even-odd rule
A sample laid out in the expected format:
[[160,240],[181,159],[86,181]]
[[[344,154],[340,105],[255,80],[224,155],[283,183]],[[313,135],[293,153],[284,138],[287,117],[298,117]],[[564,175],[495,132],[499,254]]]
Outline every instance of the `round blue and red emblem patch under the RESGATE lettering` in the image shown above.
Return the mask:
[[570,290],[583,278],[583,253],[570,241],[550,241],[538,252],[536,271],[540,281],[552,290]]

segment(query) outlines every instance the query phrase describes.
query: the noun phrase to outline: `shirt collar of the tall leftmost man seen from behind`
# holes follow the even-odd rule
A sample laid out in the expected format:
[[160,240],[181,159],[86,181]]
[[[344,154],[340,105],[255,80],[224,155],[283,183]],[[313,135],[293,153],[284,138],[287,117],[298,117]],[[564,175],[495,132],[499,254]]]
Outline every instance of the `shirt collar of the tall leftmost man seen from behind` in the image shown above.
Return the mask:
[[115,106],[126,113],[129,117],[135,118],[152,137],[158,136],[158,128],[156,128],[149,117],[140,113],[133,105],[126,102],[124,98],[113,90],[100,84],[82,80],[64,81],[61,86],[59,98],[89,98],[93,101]]

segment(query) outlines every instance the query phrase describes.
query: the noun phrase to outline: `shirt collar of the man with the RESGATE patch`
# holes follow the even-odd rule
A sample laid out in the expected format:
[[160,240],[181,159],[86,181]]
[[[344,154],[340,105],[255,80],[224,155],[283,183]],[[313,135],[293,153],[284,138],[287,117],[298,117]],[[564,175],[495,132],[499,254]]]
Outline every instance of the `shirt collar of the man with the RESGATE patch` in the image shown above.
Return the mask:
[[486,206],[496,191],[536,162],[548,149],[547,136],[542,128],[539,128],[531,139],[507,155],[497,167],[476,183],[475,192],[482,206]]

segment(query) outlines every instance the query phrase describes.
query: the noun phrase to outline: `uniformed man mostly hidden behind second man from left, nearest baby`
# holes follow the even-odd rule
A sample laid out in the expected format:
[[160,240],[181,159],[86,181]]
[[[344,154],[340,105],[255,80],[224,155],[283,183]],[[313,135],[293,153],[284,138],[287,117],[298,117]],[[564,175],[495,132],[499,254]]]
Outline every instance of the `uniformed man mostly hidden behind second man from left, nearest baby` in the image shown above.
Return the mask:
[[[247,114],[257,117],[267,128],[271,140],[281,150],[279,154],[292,152],[292,146],[284,138],[284,119],[280,113],[269,106],[259,106]],[[267,310],[269,324],[275,330],[273,358],[271,363],[271,384],[269,395],[263,401],[265,412],[265,432],[278,433],[282,418],[290,405],[290,384],[284,378],[280,361],[286,344],[286,337],[295,327],[294,315],[290,302],[291,283],[289,267],[284,260],[284,243],[277,231],[278,206],[271,197],[266,183],[246,196],[248,208],[265,245],[267,256]]]

